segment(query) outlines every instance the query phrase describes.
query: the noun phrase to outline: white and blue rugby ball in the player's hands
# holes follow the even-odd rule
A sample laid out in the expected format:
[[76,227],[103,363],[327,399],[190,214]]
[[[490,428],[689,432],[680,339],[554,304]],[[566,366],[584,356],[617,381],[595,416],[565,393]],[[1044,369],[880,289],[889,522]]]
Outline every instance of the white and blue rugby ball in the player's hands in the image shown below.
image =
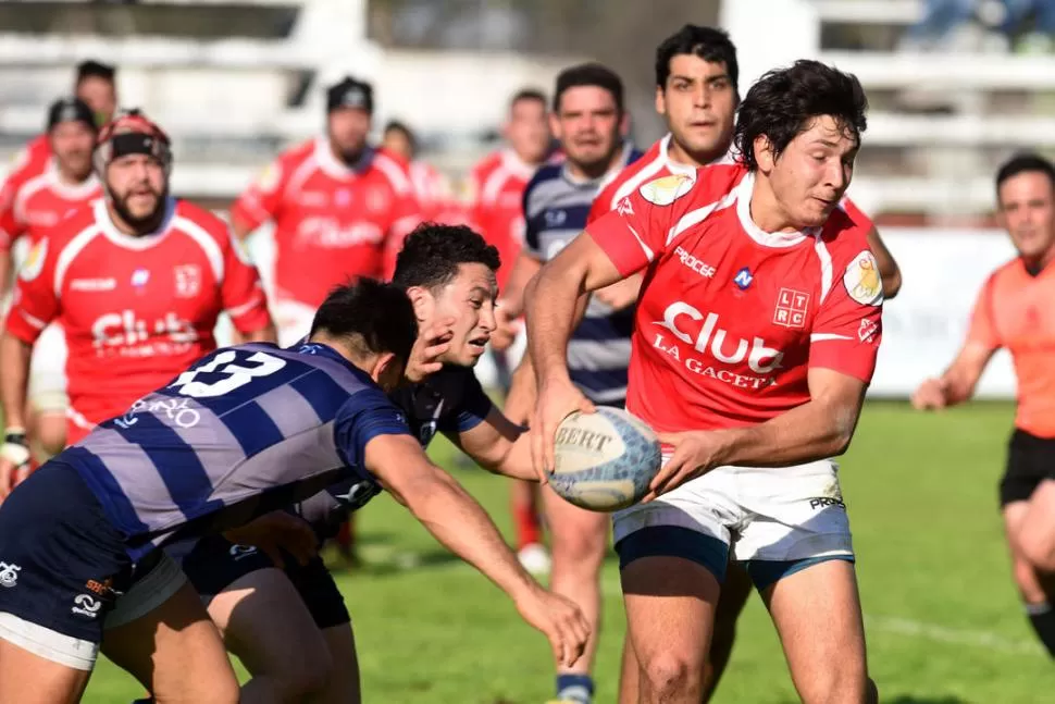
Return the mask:
[[661,461],[651,428],[605,406],[564,418],[557,427],[554,455],[554,491],[575,506],[605,512],[640,502]]

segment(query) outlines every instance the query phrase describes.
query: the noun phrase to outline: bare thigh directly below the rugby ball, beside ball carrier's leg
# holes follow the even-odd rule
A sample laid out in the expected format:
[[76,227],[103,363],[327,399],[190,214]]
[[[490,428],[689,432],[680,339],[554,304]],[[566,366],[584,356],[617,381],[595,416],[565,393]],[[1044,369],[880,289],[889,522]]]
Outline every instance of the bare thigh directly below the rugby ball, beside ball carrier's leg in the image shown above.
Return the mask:
[[609,516],[580,508],[549,486],[542,489],[542,496],[555,569],[558,561],[569,568],[599,569],[608,549]]

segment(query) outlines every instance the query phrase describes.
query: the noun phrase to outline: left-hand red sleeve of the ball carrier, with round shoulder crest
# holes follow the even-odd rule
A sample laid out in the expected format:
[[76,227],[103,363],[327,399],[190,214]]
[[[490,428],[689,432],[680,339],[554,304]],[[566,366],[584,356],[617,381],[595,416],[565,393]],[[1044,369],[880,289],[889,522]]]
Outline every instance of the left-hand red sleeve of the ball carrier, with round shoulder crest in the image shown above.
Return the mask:
[[605,250],[623,276],[648,265],[662,254],[668,234],[688,203],[692,194],[706,188],[707,180],[663,176],[645,183],[622,198],[616,208],[586,225],[586,233]]

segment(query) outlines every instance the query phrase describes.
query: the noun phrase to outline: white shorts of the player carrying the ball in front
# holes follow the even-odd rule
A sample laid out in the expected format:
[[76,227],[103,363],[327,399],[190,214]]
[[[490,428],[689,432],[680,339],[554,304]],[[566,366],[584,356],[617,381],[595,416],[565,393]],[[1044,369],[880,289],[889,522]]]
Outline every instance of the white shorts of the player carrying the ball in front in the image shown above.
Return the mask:
[[653,527],[718,539],[741,561],[854,555],[839,465],[830,459],[783,468],[719,467],[612,516],[617,544]]

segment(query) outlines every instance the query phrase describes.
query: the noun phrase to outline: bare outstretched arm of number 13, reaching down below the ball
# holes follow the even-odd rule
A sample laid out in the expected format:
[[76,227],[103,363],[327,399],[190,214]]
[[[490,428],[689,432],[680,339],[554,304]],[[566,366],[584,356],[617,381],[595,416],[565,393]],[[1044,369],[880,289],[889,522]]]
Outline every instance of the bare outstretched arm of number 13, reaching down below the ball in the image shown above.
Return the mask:
[[589,626],[571,602],[544,590],[524,571],[486,511],[410,435],[376,435],[365,466],[436,540],[509,594],[521,616],[549,639],[557,659],[583,653]]

